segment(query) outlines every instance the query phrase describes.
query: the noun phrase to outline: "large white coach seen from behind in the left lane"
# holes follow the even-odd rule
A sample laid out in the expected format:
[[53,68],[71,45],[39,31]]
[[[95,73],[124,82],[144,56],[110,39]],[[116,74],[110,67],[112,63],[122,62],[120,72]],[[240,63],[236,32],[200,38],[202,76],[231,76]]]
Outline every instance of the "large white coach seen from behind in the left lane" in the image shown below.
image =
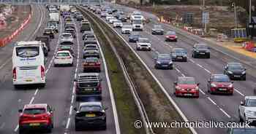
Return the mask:
[[45,87],[45,55],[41,41],[17,42],[12,53],[14,87],[39,84]]

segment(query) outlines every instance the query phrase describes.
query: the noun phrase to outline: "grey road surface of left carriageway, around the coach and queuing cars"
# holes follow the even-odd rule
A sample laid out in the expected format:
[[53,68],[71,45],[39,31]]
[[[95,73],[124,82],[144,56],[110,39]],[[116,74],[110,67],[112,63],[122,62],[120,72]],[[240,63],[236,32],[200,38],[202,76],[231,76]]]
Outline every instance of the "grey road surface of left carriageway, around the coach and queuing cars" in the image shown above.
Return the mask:
[[[42,30],[45,28],[45,24],[48,20],[48,11],[45,7],[39,5],[33,5],[33,16],[31,23],[26,27],[15,41],[33,40],[34,36],[42,35]],[[76,23],[76,28],[80,28]],[[64,23],[61,20],[59,25],[59,33],[64,31]],[[77,30],[79,31],[79,30]],[[46,67],[47,82],[44,88],[37,87],[25,87],[23,89],[14,90],[12,86],[12,44],[7,47],[1,48],[0,66],[0,78],[1,78],[1,94],[0,94],[0,133],[10,134],[18,133],[18,109],[22,109],[25,104],[28,103],[48,103],[53,106],[54,113],[54,128],[53,133],[84,133],[75,132],[75,111],[73,108],[78,105],[75,102],[75,76],[82,71],[82,45],[83,40],[81,34],[77,33],[75,39],[74,52],[75,62],[72,67],[53,67],[54,53],[59,45],[59,33],[56,33],[55,39],[50,42],[51,51],[48,55],[48,61]],[[5,53],[6,52],[6,53]],[[116,121],[117,117],[114,117],[113,111],[116,108],[113,107],[113,96],[110,95],[110,83],[108,76],[105,75],[107,68],[103,62],[104,56],[101,56],[102,61],[102,103],[108,107],[107,113],[107,130],[89,131],[88,133],[116,133]],[[116,116],[116,114],[115,114]]]

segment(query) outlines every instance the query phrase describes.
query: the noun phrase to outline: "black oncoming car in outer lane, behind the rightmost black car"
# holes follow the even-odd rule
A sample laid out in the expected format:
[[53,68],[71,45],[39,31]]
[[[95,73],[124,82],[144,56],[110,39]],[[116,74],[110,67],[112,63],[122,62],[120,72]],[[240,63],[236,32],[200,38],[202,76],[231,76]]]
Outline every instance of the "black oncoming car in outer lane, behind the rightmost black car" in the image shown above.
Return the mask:
[[192,58],[210,58],[210,47],[206,44],[195,44],[192,50]]

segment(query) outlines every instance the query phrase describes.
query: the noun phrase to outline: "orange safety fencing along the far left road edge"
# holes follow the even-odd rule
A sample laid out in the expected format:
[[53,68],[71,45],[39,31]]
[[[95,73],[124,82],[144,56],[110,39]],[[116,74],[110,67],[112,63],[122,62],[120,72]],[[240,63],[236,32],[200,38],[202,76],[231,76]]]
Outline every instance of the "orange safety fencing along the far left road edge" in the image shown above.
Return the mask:
[[17,36],[18,33],[20,33],[20,31],[23,30],[23,28],[25,28],[25,26],[31,20],[31,15],[32,15],[32,12],[29,13],[29,16],[23,21],[23,23],[21,23],[20,27],[18,29],[16,29],[14,32],[12,32],[12,34],[10,36],[4,37],[4,39],[0,39],[0,47],[4,47],[8,43],[10,43],[12,41],[12,39],[15,36]]

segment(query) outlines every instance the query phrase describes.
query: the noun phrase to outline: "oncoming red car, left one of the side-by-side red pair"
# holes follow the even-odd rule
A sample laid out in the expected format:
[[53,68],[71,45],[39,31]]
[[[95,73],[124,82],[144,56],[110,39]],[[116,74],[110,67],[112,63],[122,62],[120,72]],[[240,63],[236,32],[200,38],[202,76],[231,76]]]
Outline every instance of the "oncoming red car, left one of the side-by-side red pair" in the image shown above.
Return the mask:
[[174,95],[199,98],[198,85],[193,77],[179,76],[177,82],[174,82]]

